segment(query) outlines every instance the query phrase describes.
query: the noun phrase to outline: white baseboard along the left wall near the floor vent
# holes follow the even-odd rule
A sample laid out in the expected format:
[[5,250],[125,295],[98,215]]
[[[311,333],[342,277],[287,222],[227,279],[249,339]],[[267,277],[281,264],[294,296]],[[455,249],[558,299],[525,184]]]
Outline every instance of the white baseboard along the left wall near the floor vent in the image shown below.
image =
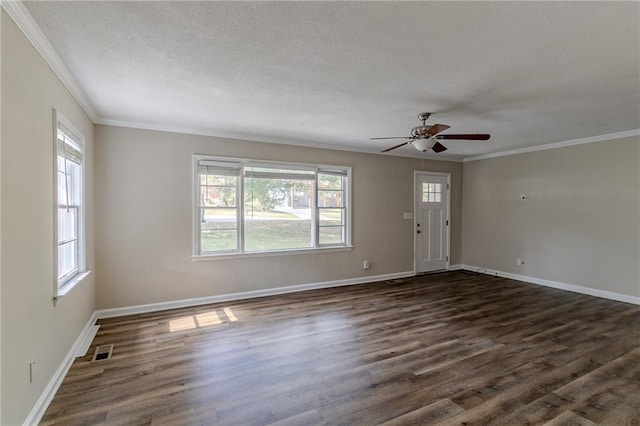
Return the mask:
[[31,409],[31,412],[24,421],[25,426],[37,425],[38,423],[40,423],[40,420],[42,420],[42,416],[44,416],[45,411],[47,411],[47,407],[49,407],[49,404],[53,400],[53,397],[56,395],[56,392],[62,384],[64,377],[67,375],[67,372],[69,372],[69,369],[73,364],[73,360],[78,356],[87,340],[89,341],[89,344],[91,344],[93,336],[95,336],[95,332],[97,331],[94,325],[96,323],[96,319],[97,316],[94,312],[87,321],[87,324],[82,329],[82,332],[80,333],[76,341],[73,343],[73,346],[71,346],[71,349],[69,349],[67,356],[65,356],[64,360],[62,361],[62,363],[60,363],[60,366],[54,373],[53,377],[51,378],[51,380],[49,380],[49,383],[42,391],[40,398],[38,398],[38,401],[36,401],[36,404]]

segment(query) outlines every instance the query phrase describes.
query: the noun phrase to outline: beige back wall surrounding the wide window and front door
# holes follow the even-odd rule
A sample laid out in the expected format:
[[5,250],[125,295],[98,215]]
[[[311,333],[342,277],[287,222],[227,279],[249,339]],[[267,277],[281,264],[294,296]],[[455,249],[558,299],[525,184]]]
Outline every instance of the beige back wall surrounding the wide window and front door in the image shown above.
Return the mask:
[[[193,154],[351,166],[353,250],[193,262]],[[112,126],[96,126],[96,158],[99,308],[412,271],[403,212],[414,170],[452,173],[451,257],[461,260],[461,163]]]

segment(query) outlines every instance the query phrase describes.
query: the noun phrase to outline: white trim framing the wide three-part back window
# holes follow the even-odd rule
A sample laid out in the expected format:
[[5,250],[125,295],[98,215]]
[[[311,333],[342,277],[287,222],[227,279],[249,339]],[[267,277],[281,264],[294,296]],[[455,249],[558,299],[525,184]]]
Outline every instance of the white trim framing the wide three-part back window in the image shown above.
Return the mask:
[[[219,251],[217,253],[202,253],[200,250],[200,180],[198,174],[198,165],[200,161],[210,161],[212,164],[224,164],[229,163],[239,165],[240,171],[238,174],[238,187],[236,189],[236,209],[238,211],[238,244],[236,250]],[[313,180],[313,194],[315,199],[311,208],[311,217],[314,223],[314,230],[312,232],[313,247],[303,247],[299,249],[282,249],[282,250],[266,250],[266,251],[244,251],[244,169],[247,167],[268,167],[268,168],[293,168],[297,170],[313,171],[315,173],[315,179]],[[319,217],[318,217],[318,188],[317,188],[317,175],[322,174],[323,171],[341,172],[347,178],[347,183],[344,188],[344,203],[345,203],[345,241],[343,244],[319,244]],[[225,258],[250,258],[250,257],[264,257],[264,256],[279,256],[279,255],[291,255],[291,254],[308,254],[319,252],[331,252],[331,251],[348,251],[353,248],[351,245],[351,188],[352,188],[352,168],[349,166],[337,166],[327,164],[310,164],[310,163],[296,163],[290,161],[268,161],[260,159],[238,158],[238,157],[219,157],[215,155],[206,154],[194,154],[192,158],[192,260],[207,260],[207,259],[225,259]]]

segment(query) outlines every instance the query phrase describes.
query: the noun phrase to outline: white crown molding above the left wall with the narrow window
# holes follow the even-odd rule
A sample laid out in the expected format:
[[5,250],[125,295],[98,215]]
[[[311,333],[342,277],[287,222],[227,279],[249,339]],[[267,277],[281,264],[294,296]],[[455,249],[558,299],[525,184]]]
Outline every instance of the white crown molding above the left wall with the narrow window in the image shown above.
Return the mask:
[[69,68],[62,62],[60,56],[53,48],[47,37],[44,35],[36,21],[24,6],[21,0],[2,0],[0,2],[2,8],[13,19],[18,28],[31,42],[33,47],[38,51],[40,56],[49,65],[54,74],[60,79],[62,84],[69,90],[71,96],[80,104],[80,107],[95,122],[98,118],[93,109],[89,98],[84,93],[76,79],[69,71]]

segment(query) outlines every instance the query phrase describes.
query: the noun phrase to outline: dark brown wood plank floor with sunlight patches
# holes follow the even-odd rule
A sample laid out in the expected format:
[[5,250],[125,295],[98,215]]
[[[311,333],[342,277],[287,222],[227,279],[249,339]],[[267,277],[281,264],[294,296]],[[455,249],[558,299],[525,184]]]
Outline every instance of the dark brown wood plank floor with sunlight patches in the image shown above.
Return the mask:
[[640,306],[450,272],[100,320],[42,424],[640,424]]

